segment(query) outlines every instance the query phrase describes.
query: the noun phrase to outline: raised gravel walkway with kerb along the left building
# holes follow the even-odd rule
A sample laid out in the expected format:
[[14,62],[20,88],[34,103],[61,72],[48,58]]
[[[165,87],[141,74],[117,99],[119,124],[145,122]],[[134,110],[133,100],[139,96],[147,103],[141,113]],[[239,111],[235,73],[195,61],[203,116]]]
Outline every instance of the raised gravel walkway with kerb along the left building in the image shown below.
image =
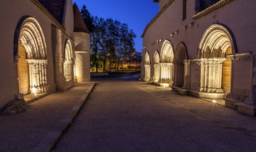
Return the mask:
[[84,82],[50,94],[28,104],[28,110],[21,114],[0,115],[0,151],[32,151],[49,133],[63,129],[60,124],[63,120],[63,126],[70,123],[65,119],[75,114],[74,106],[82,105],[80,98],[91,85],[94,83]]

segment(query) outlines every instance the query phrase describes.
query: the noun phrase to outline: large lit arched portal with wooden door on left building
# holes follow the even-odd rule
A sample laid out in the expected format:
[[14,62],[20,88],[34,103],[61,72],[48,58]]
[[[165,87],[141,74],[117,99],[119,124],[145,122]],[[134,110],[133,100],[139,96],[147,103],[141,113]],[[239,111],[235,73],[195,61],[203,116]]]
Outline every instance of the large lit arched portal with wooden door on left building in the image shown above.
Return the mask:
[[19,92],[23,94],[48,92],[46,42],[41,26],[35,18],[30,16],[21,18],[16,28],[14,43],[18,46],[17,49],[14,48],[14,62],[18,63]]

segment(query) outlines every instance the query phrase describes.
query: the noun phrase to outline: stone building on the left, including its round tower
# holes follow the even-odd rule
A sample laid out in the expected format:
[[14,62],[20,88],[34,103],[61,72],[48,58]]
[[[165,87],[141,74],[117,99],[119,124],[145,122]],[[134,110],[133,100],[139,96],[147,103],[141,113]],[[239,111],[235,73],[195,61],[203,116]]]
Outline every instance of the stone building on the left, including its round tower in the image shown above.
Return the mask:
[[0,1],[0,13],[0,112],[90,81],[90,32],[72,0]]

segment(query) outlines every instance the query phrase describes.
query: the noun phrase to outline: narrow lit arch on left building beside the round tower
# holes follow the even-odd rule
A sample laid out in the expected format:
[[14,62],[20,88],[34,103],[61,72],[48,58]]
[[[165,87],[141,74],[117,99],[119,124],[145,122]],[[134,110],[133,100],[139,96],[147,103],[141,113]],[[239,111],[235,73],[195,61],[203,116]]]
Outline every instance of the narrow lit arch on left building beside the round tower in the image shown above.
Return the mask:
[[72,80],[73,73],[73,49],[70,40],[65,43],[65,61],[63,63],[64,76],[66,80]]

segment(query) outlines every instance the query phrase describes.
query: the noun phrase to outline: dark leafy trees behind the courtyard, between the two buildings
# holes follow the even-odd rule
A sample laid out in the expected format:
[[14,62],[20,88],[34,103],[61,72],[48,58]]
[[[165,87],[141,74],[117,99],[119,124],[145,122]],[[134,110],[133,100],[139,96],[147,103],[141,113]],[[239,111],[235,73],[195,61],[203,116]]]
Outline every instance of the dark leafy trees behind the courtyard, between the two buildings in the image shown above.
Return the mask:
[[90,16],[85,6],[82,7],[81,14],[91,34],[90,61],[96,72],[99,67],[105,71],[109,66],[111,70],[112,65],[115,70],[119,70],[122,60],[136,60],[141,56],[134,48],[134,38],[137,36],[126,23],[112,18]]

